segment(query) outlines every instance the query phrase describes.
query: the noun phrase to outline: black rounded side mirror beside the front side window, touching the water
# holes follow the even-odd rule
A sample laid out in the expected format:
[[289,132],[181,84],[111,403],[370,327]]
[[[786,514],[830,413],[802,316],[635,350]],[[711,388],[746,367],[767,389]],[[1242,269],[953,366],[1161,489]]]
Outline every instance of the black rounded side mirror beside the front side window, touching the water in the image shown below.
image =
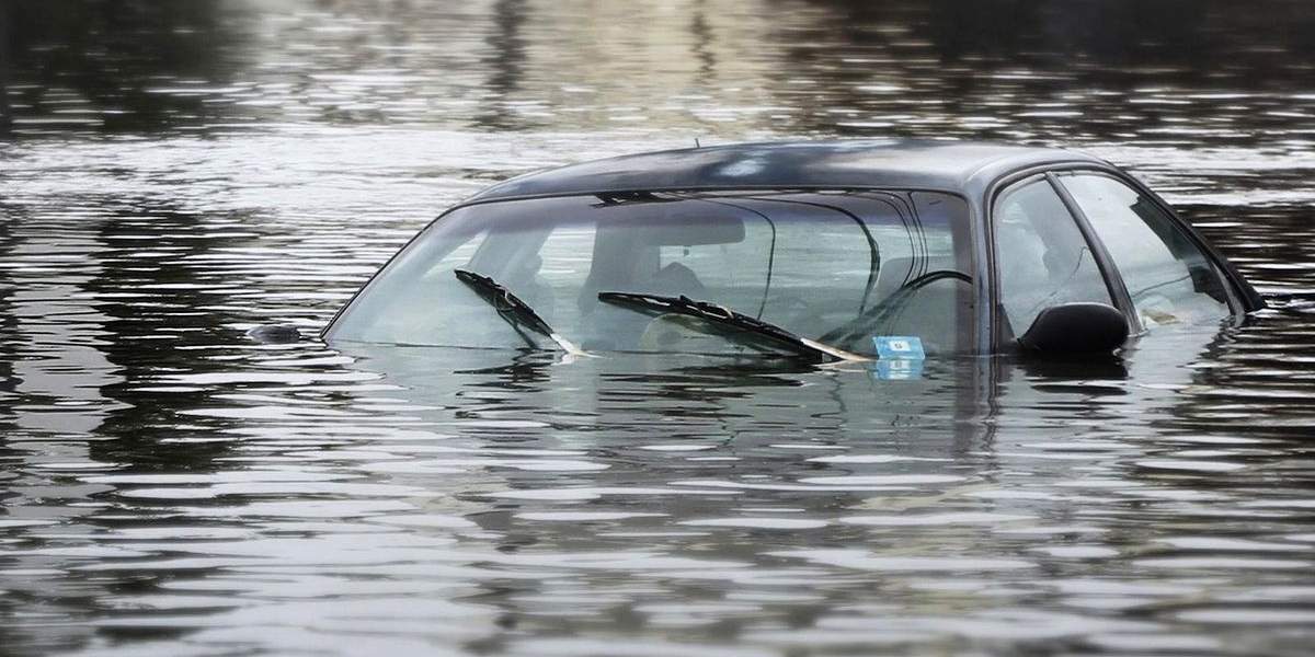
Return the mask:
[[1109,353],[1128,339],[1128,321],[1106,304],[1060,304],[1041,310],[1018,343],[1041,353]]

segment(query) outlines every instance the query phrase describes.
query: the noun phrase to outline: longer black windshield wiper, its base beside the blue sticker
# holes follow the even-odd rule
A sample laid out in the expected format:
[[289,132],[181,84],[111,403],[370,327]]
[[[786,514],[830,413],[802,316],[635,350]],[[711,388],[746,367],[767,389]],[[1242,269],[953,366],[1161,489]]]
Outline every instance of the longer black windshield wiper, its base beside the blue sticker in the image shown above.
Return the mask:
[[780,326],[755,319],[750,315],[736,313],[726,306],[719,306],[707,301],[697,301],[686,296],[664,297],[660,294],[642,294],[636,292],[600,292],[598,301],[618,306],[633,306],[658,313],[676,313],[685,317],[702,319],[713,326],[726,328],[723,332],[747,332],[756,338],[764,338],[778,347],[789,350],[800,356],[810,356],[819,361],[826,360],[871,360],[857,353],[822,344],[817,340],[798,336]]

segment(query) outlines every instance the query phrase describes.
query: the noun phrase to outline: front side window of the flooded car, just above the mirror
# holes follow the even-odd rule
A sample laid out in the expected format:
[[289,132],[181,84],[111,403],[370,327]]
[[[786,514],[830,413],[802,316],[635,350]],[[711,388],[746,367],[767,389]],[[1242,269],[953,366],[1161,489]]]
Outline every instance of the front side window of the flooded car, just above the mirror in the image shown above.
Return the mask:
[[1045,179],[1007,189],[993,215],[999,305],[1014,335],[1049,306],[1112,305],[1110,289],[1073,215]]

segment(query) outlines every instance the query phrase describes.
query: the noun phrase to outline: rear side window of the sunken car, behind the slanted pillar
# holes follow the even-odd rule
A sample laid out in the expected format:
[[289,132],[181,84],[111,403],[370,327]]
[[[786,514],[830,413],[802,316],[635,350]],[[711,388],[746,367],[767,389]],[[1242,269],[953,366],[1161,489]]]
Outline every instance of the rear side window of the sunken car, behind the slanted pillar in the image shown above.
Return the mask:
[[1228,317],[1219,269],[1173,217],[1110,176],[1065,173],[1060,180],[1110,252],[1143,325]]

